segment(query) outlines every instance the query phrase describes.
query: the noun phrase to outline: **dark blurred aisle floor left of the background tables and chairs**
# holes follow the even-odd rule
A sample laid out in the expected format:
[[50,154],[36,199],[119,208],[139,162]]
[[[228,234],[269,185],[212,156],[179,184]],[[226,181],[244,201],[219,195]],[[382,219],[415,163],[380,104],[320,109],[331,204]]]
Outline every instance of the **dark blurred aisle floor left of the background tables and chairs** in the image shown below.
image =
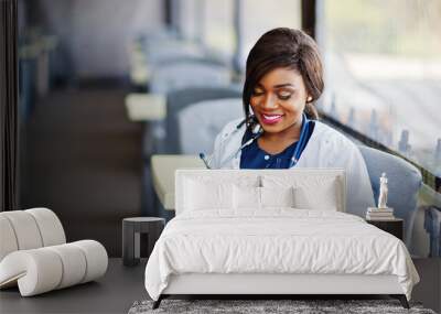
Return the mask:
[[141,214],[141,138],[122,88],[55,90],[21,133],[21,208],[49,207],[68,241],[96,239],[121,253],[121,219]]

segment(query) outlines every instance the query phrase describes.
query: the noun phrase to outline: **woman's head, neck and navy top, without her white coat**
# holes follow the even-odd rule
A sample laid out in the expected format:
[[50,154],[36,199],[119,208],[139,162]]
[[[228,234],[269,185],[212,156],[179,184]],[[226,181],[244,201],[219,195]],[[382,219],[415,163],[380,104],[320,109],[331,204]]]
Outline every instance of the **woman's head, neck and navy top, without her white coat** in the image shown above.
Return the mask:
[[248,126],[258,122],[263,132],[244,150],[240,167],[293,166],[314,129],[312,121],[302,122],[303,112],[318,119],[313,104],[323,87],[322,62],[309,35],[286,28],[265,33],[248,55],[243,95]]

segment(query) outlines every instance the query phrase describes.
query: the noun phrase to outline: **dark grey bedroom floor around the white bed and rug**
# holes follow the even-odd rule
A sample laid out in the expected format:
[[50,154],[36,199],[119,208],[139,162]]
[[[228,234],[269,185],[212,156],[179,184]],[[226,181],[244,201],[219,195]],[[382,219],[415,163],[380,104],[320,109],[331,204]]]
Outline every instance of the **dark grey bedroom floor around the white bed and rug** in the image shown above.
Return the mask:
[[[424,307],[440,313],[441,259],[416,259],[413,262],[421,282],[413,289],[412,301],[422,302]],[[135,301],[149,299],[143,283],[144,268],[146,260],[130,268],[123,267],[120,259],[110,259],[106,275],[97,282],[33,297],[21,297],[18,289],[0,291],[0,313],[127,313]],[[357,299],[380,297],[385,296]]]

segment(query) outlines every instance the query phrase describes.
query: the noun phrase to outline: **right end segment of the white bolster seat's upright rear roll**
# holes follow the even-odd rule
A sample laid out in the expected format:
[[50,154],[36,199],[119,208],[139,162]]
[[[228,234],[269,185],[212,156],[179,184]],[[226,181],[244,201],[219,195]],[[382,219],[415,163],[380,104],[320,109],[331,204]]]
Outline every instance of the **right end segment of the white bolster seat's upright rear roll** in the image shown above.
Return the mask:
[[47,208],[32,208],[24,210],[32,215],[39,226],[43,247],[57,246],[66,242],[62,223],[54,212]]

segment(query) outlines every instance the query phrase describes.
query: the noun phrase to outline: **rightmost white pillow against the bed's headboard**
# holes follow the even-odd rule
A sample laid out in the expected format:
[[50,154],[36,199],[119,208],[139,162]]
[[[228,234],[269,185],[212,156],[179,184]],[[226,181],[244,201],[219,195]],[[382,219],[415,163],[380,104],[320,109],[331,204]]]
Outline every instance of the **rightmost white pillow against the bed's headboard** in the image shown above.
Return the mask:
[[322,180],[316,186],[295,186],[295,208],[315,210],[338,210],[338,182]]

